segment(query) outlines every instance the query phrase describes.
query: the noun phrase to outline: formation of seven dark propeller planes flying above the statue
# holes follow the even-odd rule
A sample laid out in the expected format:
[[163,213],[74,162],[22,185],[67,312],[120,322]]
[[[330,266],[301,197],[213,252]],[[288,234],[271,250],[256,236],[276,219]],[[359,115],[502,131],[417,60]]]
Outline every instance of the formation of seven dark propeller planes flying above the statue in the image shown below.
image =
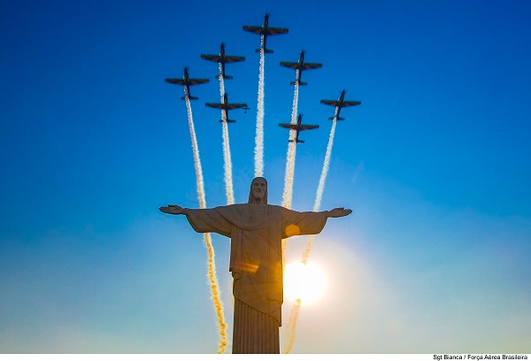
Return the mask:
[[[284,27],[269,27],[269,14],[266,14],[264,17],[264,24],[262,26],[244,26],[243,30],[249,31],[250,33],[261,35],[261,47],[257,49],[256,51],[264,52],[266,54],[273,53],[273,50],[267,49],[266,42],[267,42],[267,36],[269,35],[281,35],[281,34],[288,34],[288,29]],[[228,56],[225,54],[225,44],[221,43],[219,47],[219,55],[207,55],[207,54],[201,54],[201,58],[205,60],[210,60],[213,62],[216,62],[219,64],[219,74],[216,75],[216,78],[219,79],[219,81],[225,80],[225,79],[233,79],[232,76],[227,75],[225,73],[225,65],[228,63],[235,63],[244,61],[244,57],[240,56]],[[301,75],[304,70],[309,69],[318,69],[321,68],[323,65],[319,63],[305,63],[304,62],[304,50],[301,50],[300,57],[297,62],[286,62],[282,61],[280,63],[281,66],[286,66],[291,69],[296,70],[296,81],[291,81],[291,85],[307,85],[306,82],[301,81]],[[186,99],[188,97],[189,100],[197,99],[196,96],[191,96],[190,94],[190,86],[197,85],[197,84],[204,84],[208,82],[208,79],[191,79],[189,77],[189,69],[188,67],[184,68],[184,75],[182,79],[178,78],[168,78],[165,79],[166,82],[172,83],[172,84],[179,84],[185,87],[185,94],[186,96],[182,96],[181,99]],[[361,102],[359,101],[348,101],[344,100],[345,97],[345,90],[343,89],[341,92],[341,95],[339,96],[338,100],[321,100],[321,104],[331,105],[335,107],[335,114],[333,117],[330,117],[328,119],[331,120],[344,120],[344,118],[341,118],[339,116],[340,111],[343,107],[353,106],[353,105],[359,105]],[[223,111],[223,117],[220,119],[220,122],[227,122],[227,123],[234,123],[235,120],[228,118],[228,111],[232,109],[243,109],[245,113],[250,109],[247,104],[238,103],[238,104],[230,104],[227,100],[227,93],[223,95],[223,101],[222,103],[206,103],[206,106],[217,108]],[[302,114],[298,115],[296,124],[286,124],[286,123],[280,123],[279,127],[285,127],[288,129],[292,129],[296,131],[295,139],[289,139],[289,142],[295,142],[295,143],[304,143],[303,140],[300,140],[298,138],[299,132],[303,130],[308,129],[315,129],[319,126],[317,125],[305,125],[302,124]]]

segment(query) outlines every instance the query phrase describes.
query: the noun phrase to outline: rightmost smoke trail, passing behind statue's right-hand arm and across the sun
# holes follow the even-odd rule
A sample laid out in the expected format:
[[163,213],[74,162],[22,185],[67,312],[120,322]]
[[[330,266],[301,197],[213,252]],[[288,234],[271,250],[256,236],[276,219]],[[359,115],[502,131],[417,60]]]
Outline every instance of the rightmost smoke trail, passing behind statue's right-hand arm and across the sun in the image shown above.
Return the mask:
[[[337,111],[335,112],[337,114]],[[330,129],[330,136],[328,137],[327,153],[325,155],[325,162],[323,164],[323,169],[319,178],[319,186],[317,187],[317,195],[315,196],[315,204],[313,205],[313,211],[319,211],[321,199],[325,190],[325,183],[327,181],[328,167],[330,165],[330,157],[332,157],[332,146],[334,145],[334,136],[335,136],[335,125],[337,119],[332,120],[332,128]],[[312,241],[315,235],[309,235],[308,241],[306,242],[306,248],[303,252],[303,259],[301,262],[303,265],[306,265],[308,262],[308,257],[310,256],[310,251],[312,250]],[[284,353],[289,353],[295,342],[295,330],[296,330],[296,321],[298,320],[298,312],[301,307],[300,300],[296,300],[296,303],[291,308],[291,313],[289,315],[289,324],[287,326],[288,331],[286,338],[288,339],[288,345],[284,349]]]

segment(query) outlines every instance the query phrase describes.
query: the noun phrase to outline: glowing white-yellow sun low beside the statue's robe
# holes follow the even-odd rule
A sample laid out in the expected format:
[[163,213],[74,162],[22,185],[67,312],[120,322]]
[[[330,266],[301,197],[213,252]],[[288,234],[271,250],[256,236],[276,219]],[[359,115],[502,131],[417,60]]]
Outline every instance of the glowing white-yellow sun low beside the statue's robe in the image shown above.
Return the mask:
[[327,291],[327,275],[319,265],[294,262],[284,269],[284,296],[301,299],[304,304],[315,303]]

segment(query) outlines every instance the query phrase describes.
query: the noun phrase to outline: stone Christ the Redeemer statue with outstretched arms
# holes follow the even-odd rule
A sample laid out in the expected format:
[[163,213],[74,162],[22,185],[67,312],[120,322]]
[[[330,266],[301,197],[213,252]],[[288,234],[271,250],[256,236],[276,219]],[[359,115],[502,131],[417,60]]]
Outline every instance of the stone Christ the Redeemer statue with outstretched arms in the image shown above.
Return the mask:
[[212,209],[160,207],[169,214],[184,214],[196,232],[215,232],[231,239],[229,272],[233,276],[235,319],[233,353],[280,353],[282,248],[292,235],[319,234],[327,218],[351,213],[291,211],[267,204],[267,181],[250,185],[249,203]]

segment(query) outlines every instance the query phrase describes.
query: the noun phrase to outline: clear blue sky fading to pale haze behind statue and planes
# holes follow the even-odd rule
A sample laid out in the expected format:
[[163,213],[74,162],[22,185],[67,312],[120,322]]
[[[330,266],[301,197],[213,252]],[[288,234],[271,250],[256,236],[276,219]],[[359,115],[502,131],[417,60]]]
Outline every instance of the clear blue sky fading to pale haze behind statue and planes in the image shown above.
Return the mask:
[[[27,1],[0,5],[0,351],[214,353],[203,237],[158,211],[197,207],[189,66],[206,202],[226,203],[214,63],[226,42],[237,203],[254,173],[260,25],[265,176],[281,204],[294,73],[303,74],[293,208],[312,210],[337,124],[296,353],[531,353],[531,9],[524,1]],[[289,241],[289,262],[305,237]],[[229,334],[228,240],[213,236]],[[287,319],[291,303],[284,303]],[[282,337],[285,333],[282,330]],[[281,339],[284,342],[284,339]],[[228,349],[229,350],[229,349]]]

